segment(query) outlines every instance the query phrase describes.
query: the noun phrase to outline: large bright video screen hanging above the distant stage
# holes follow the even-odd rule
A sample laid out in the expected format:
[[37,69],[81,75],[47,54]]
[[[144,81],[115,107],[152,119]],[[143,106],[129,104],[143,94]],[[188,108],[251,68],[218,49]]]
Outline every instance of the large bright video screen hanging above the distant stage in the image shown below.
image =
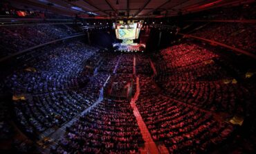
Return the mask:
[[116,38],[121,40],[138,39],[140,33],[141,23],[113,23],[116,30]]

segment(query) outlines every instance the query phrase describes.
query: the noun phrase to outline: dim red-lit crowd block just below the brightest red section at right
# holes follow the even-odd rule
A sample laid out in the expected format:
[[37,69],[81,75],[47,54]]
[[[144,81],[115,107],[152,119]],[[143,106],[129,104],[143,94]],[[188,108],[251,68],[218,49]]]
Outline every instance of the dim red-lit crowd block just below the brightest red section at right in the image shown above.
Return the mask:
[[244,103],[250,100],[247,89],[237,84],[223,84],[223,81],[170,81],[163,88],[172,98],[212,111],[243,115]]

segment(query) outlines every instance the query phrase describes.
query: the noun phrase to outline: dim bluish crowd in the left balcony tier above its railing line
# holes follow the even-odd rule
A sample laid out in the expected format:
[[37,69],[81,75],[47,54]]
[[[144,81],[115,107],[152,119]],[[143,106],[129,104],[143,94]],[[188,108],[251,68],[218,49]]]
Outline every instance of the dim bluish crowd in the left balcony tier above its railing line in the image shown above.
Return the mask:
[[9,25],[0,27],[0,58],[14,54],[21,50],[26,50],[35,45],[62,39],[71,34],[75,34],[75,30],[68,25]]

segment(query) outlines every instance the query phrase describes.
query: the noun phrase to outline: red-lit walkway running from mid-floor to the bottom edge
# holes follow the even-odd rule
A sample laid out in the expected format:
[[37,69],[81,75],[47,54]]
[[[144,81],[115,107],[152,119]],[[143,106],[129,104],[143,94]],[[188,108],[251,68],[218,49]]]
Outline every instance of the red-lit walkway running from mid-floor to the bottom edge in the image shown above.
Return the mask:
[[[134,115],[136,117],[137,123],[138,123],[138,127],[140,129],[141,134],[143,135],[143,140],[145,141],[145,153],[149,153],[149,154],[156,154],[156,153],[160,153],[158,151],[158,148],[155,144],[155,142],[152,139],[152,136],[149,133],[149,130],[147,129],[147,126],[145,124],[145,122],[143,121],[143,118],[140,115],[140,112],[138,111],[138,108],[136,107],[136,100],[138,100],[138,96],[140,95],[140,85],[139,85],[139,77],[136,78],[136,94],[134,96],[134,98],[131,99],[131,107],[132,109],[134,109]],[[167,148],[165,148],[167,150]],[[144,151],[140,151],[140,152],[144,152]],[[168,153],[168,151],[167,151]]]

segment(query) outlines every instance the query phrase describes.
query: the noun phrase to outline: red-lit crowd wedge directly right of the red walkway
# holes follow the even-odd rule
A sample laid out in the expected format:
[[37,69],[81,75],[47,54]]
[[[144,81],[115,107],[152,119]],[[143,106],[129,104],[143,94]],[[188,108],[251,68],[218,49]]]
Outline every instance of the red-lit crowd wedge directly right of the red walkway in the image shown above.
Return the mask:
[[149,77],[140,76],[136,104],[153,140],[163,142],[170,153],[207,153],[234,129],[208,112],[161,95]]

